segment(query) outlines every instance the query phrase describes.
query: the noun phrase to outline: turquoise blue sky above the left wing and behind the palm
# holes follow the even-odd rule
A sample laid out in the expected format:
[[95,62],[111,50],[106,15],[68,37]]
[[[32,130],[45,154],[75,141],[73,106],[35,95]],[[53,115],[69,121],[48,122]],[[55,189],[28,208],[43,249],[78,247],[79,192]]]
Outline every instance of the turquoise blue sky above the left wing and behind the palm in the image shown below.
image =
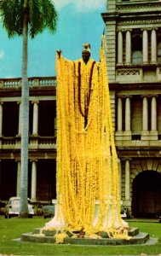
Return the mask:
[[[81,57],[83,43],[91,44],[91,57],[99,60],[105,24],[106,0],[53,0],[59,14],[55,34],[44,31],[29,39],[28,76],[55,76],[55,51],[70,60]],[[8,38],[0,26],[0,79],[21,77],[22,38]]]

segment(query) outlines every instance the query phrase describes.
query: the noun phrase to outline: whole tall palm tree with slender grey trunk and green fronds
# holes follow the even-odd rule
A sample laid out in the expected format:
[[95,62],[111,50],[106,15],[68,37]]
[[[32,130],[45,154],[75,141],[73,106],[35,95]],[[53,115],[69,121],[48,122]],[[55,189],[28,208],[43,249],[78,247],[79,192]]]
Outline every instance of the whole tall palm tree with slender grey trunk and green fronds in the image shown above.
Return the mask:
[[57,12],[52,0],[1,0],[0,16],[9,38],[22,35],[22,126],[21,126],[21,179],[20,217],[28,217],[28,130],[29,130],[29,85],[27,78],[28,34],[34,38],[48,28],[55,32]]

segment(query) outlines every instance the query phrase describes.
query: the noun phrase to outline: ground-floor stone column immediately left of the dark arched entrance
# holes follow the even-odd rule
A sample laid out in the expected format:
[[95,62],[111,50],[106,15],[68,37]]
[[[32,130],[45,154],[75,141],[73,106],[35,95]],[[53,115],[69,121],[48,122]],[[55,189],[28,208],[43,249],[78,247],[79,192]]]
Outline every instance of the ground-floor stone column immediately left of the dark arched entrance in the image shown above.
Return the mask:
[[130,201],[130,166],[129,166],[129,159],[125,160],[125,201]]

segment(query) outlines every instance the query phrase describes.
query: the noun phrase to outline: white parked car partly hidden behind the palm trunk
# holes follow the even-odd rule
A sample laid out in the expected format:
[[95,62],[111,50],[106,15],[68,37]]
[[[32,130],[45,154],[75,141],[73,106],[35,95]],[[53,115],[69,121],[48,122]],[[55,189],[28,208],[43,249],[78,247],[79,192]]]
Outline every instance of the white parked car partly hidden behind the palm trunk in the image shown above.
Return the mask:
[[[30,199],[28,199],[28,212],[29,218],[34,215],[34,206],[32,206]],[[11,218],[14,216],[20,216],[20,197],[10,197],[9,202],[4,207],[4,217]]]

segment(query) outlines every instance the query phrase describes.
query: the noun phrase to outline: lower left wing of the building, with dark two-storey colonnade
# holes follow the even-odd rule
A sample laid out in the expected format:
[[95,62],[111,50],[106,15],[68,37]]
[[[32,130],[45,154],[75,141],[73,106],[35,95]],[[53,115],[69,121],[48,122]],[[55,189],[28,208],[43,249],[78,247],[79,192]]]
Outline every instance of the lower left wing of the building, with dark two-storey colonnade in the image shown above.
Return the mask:
[[[28,196],[56,197],[55,77],[30,78]],[[20,79],[0,79],[0,200],[20,195]]]

